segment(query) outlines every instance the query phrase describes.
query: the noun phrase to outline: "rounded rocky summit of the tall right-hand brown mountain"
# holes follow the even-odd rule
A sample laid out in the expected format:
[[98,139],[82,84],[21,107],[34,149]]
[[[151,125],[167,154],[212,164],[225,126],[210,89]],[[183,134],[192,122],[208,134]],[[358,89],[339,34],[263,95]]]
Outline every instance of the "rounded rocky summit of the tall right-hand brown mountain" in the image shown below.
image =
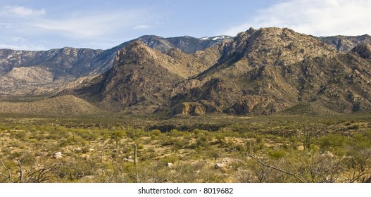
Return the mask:
[[245,59],[249,65],[277,65],[303,61],[308,57],[329,55],[334,49],[315,37],[288,28],[250,28],[227,44],[220,63],[230,65]]

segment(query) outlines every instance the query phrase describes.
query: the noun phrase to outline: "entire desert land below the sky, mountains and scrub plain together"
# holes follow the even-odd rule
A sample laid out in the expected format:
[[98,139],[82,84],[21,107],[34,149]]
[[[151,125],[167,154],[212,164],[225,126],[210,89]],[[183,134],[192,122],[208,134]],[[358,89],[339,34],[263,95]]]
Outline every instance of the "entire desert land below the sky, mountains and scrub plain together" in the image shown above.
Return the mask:
[[367,38],[2,49],[0,182],[370,183]]

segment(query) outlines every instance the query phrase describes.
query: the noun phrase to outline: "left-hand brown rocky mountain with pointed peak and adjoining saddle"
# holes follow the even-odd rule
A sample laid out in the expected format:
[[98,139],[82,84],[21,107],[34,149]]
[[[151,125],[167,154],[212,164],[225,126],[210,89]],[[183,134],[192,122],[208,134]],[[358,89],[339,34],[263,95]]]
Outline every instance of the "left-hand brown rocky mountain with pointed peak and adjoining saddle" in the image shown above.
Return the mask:
[[[116,53],[113,68],[82,84],[74,94],[94,98],[93,102],[111,110],[152,113],[159,106],[170,107],[168,101],[174,84],[203,72],[214,65],[220,55],[217,45],[192,54],[177,48],[162,53],[135,41]],[[62,94],[70,94],[70,91]]]

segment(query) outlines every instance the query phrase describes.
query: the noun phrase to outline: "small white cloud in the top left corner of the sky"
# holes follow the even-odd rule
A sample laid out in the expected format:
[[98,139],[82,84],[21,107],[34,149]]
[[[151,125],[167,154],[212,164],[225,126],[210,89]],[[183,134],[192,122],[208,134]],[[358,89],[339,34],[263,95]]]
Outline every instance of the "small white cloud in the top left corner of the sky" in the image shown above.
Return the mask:
[[12,17],[33,17],[44,15],[45,9],[37,10],[32,8],[26,8],[24,6],[2,6],[0,8],[0,15],[8,15]]

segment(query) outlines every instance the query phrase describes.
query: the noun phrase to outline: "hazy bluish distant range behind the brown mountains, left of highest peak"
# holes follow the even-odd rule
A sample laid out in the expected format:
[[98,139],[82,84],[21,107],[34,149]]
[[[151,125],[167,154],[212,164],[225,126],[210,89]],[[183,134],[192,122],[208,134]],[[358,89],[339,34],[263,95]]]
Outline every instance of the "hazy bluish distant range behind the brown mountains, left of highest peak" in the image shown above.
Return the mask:
[[[163,38],[143,36],[107,50],[51,49],[49,51],[15,51],[0,49],[0,95],[34,96],[56,94],[80,77],[100,75],[113,66],[115,53],[130,43],[142,41],[153,49],[180,49],[195,53],[229,37],[197,39],[194,37]],[[80,79],[81,81],[81,79]]]

